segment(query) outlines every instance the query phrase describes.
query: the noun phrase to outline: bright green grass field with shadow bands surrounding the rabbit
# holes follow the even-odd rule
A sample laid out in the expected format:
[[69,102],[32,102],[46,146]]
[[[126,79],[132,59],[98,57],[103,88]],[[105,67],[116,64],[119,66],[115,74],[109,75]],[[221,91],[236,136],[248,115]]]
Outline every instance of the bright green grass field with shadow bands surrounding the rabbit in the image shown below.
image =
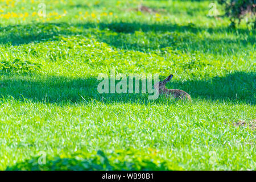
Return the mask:
[[[1,0],[0,169],[255,170],[256,34],[210,2]],[[100,94],[110,68],[192,102]]]

